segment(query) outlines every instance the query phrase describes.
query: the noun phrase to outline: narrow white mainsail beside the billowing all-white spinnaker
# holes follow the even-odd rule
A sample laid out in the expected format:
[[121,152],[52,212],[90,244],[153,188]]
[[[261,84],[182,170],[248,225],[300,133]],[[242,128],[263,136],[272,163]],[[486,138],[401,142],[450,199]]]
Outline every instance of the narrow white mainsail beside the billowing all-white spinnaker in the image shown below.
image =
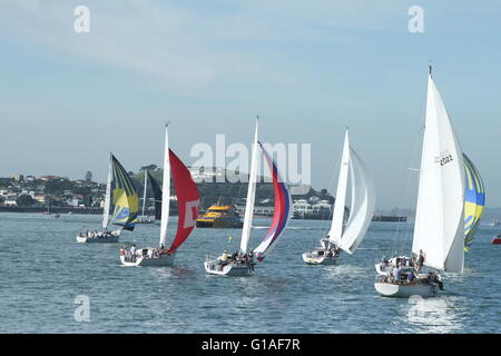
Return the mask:
[[331,230],[328,231],[328,240],[340,245],[343,235],[344,207],[346,204],[346,189],[350,167],[350,139],[348,132],[344,136],[343,154],[341,156],[340,176],[337,178],[337,190],[334,201],[334,212],[332,215]]

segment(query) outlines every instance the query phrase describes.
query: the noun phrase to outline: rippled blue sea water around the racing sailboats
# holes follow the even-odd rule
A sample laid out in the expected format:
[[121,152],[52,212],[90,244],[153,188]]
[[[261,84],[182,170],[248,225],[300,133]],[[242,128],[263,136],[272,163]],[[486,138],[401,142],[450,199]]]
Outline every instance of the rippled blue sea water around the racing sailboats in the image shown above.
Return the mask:
[[[373,222],[353,255],[337,266],[307,266],[301,254],[317,245],[328,221],[293,220],[256,275],[209,276],[206,254],[236,250],[240,230],[196,229],[174,267],[121,267],[122,244],[81,245],[76,234],[98,216],[0,215],[1,333],[499,333],[501,246],[481,226],[461,276],[446,291],[414,300],[377,296],[374,263],[410,245],[412,224]],[[176,228],[173,217],[169,237]],[[252,246],[269,220],[257,219]],[[403,234],[407,231],[407,234]],[[228,235],[234,237],[228,244]],[[156,246],[158,225],[138,225],[121,243]],[[73,317],[87,296],[90,320]]]

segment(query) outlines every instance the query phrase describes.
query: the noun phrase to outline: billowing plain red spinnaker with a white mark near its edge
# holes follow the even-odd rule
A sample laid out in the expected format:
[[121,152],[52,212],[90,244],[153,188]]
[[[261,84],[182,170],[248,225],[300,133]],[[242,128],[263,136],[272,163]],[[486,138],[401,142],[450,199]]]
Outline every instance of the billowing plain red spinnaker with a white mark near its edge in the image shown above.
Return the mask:
[[176,189],[179,217],[177,220],[177,233],[168,253],[174,253],[188,238],[195,228],[200,208],[200,195],[193,180],[189,170],[169,149],[170,174],[173,175],[174,188]]

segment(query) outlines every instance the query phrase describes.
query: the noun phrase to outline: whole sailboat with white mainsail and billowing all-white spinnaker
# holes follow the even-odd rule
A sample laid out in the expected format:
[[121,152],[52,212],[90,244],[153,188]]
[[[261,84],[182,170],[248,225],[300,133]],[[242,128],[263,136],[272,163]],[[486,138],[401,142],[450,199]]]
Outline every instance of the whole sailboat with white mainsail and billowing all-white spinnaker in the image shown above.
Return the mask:
[[[346,224],[343,224],[348,175],[351,176],[352,205],[348,219]],[[303,260],[310,265],[334,265],[341,250],[353,254],[362,243],[371,224],[374,207],[374,185],[365,165],[350,146],[346,129],[331,230],[320,240],[320,247],[303,254]]]

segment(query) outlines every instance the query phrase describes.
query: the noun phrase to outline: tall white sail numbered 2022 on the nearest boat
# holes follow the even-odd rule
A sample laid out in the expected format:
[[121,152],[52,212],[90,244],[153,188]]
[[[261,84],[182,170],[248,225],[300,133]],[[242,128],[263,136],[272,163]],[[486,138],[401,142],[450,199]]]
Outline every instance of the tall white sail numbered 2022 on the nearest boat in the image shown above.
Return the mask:
[[463,154],[430,76],[412,251],[423,250],[429,267],[462,273],[463,216]]

